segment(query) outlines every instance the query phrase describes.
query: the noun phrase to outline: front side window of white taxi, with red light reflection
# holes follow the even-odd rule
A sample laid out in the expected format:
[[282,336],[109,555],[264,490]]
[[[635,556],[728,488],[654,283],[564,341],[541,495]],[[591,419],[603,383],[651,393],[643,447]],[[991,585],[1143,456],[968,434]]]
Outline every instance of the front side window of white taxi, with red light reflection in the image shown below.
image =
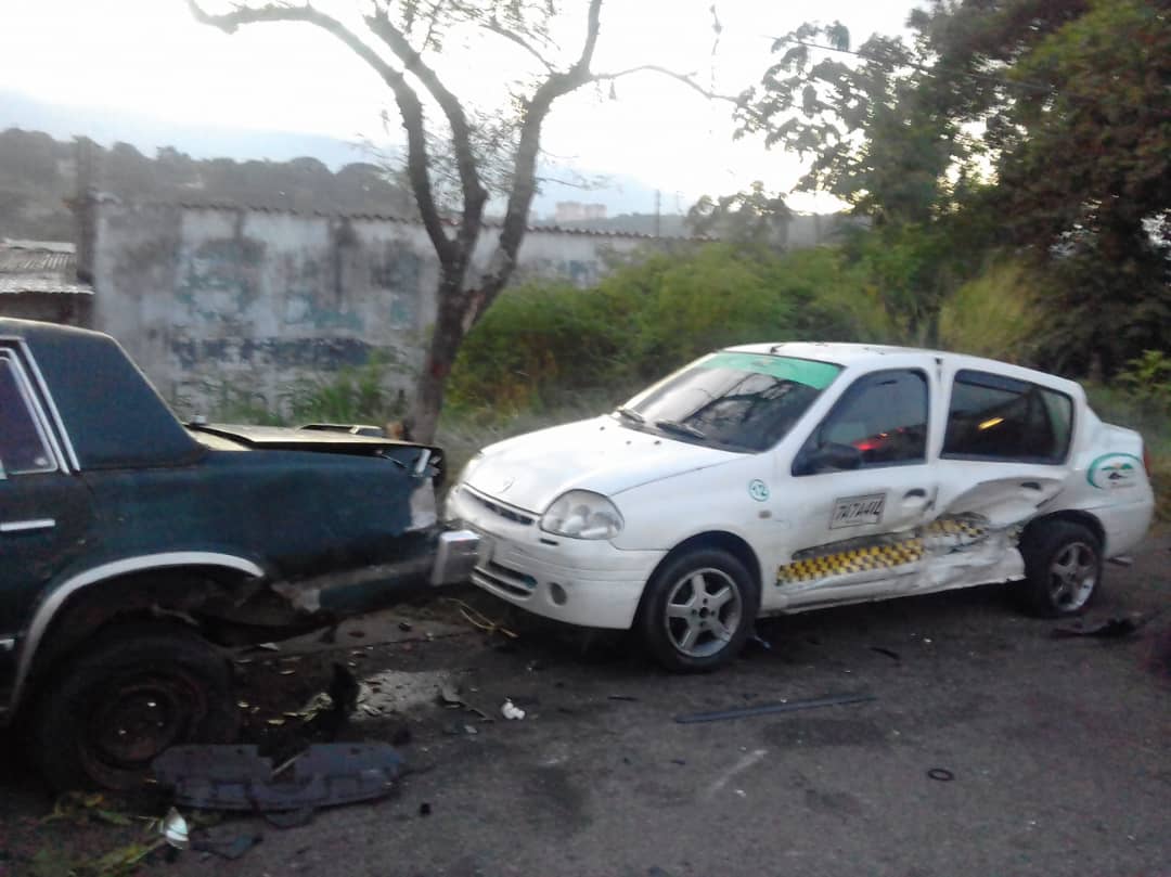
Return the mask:
[[858,378],[797,453],[793,474],[924,463],[927,379],[892,369]]

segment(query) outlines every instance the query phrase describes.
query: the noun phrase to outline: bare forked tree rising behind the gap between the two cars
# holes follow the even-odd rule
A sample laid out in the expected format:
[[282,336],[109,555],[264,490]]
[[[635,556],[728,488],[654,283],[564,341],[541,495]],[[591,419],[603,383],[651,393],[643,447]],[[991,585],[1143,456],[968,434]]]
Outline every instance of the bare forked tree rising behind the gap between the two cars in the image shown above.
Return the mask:
[[[368,34],[316,7],[285,2],[263,6],[234,5],[230,12],[212,14],[196,0],[187,0],[194,18],[234,33],[244,25],[300,21],[341,40],[367,62],[393,96],[406,131],[406,178],[419,218],[439,259],[438,313],[424,368],[411,410],[417,439],[430,440],[443,405],[444,381],[456,354],[472,326],[500,294],[516,267],[516,253],[536,192],[536,163],[541,129],[557,98],[590,82],[612,81],[635,73],[671,76],[708,96],[691,76],[653,64],[616,73],[594,73],[590,64],[601,29],[602,0],[589,0],[580,50],[567,61],[550,36],[559,15],[556,0],[375,0],[362,21]],[[475,118],[427,62],[443,50],[445,34],[458,26],[474,26],[514,43],[533,57],[541,73],[532,87],[514,96],[515,129],[507,139],[511,152],[507,173],[507,208],[493,254],[482,270],[473,270],[472,255],[484,228],[488,200],[482,164],[482,132]],[[424,101],[438,107],[440,119],[429,122]],[[458,218],[445,219],[437,200],[436,174],[443,162],[434,150],[437,132],[448,141],[458,179]]]

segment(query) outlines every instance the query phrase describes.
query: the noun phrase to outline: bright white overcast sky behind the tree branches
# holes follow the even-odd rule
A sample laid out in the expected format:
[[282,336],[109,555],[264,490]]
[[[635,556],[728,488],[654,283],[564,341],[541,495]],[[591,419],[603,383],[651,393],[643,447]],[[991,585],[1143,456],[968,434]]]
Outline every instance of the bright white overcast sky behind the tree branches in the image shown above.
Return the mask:
[[[660,63],[737,93],[768,64],[769,37],[807,19],[840,19],[855,44],[896,33],[912,0],[715,0],[723,33],[714,56],[712,0],[609,0],[595,70]],[[330,0],[319,8],[333,11]],[[564,4],[575,8],[575,0]],[[224,8],[222,0],[206,0]],[[340,14],[364,8],[338,0]],[[228,36],[197,23],[184,0],[0,0],[0,90],[67,104],[116,108],[228,128],[386,139],[386,89],[344,46],[311,26],[254,25]],[[568,19],[567,48],[581,34]],[[489,105],[521,75],[526,56],[487,36],[448,46],[437,62],[461,95]],[[557,159],[624,173],[664,190],[664,210],[754,179],[787,190],[800,165],[759,141],[732,142],[726,104],[650,74],[582,89],[556,104],[545,146]],[[392,109],[392,108],[391,108]],[[16,119],[19,122],[19,119]],[[391,130],[397,137],[398,129]],[[163,145],[163,144],[157,144]],[[678,193],[678,194],[676,194]],[[588,193],[583,200],[589,200]],[[815,206],[804,201],[797,206]],[[816,206],[829,206],[828,201]]]

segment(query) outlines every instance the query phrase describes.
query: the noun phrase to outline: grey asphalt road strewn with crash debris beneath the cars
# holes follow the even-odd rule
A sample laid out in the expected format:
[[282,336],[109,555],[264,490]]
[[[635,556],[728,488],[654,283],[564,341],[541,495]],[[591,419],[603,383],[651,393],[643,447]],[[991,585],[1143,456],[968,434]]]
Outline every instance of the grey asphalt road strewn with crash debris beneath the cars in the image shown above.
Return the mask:
[[[398,713],[362,713],[342,732],[409,731],[412,769],[396,794],[301,828],[235,820],[217,830],[263,835],[240,859],[187,851],[144,872],[1171,875],[1171,534],[1150,539],[1134,567],[1109,567],[1086,619],[1137,614],[1145,623],[1129,637],[1055,638],[1054,623],[985,588],[763,622],[769,651],[703,677],[669,676],[622,638],[528,623],[482,596],[475,604],[518,639],[415,610],[410,633],[370,619],[336,651],[241,667],[274,751],[295,742],[296,721],[266,717],[300,706],[331,662],[403,673],[383,677]],[[437,703],[441,681],[497,719]],[[874,700],[673,718],[841,693]],[[506,697],[523,720],[499,717]],[[936,768],[953,779],[931,779]],[[46,847],[97,855],[130,831],[35,824],[46,801],[14,767],[0,801],[5,877],[42,873],[29,856],[40,850],[47,868]]]

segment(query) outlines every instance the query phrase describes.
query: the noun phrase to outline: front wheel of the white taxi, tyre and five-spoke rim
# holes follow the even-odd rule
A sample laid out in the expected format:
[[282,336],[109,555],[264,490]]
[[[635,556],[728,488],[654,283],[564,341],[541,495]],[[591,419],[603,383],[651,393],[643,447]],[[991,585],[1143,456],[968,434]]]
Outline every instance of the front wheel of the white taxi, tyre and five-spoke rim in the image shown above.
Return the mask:
[[648,584],[643,639],[667,670],[714,670],[744,648],[759,602],[755,582],[733,555],[717,548],[689,551]]

